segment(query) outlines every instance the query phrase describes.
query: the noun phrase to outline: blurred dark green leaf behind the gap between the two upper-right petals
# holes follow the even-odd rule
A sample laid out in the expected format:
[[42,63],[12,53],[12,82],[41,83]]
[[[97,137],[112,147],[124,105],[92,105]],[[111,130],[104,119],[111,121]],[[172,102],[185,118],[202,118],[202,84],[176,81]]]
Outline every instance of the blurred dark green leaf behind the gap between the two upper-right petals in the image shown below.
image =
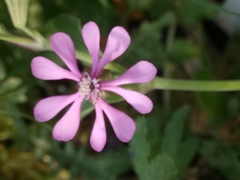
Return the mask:
[[147,59],[156,67],[161,67],[165,58],[161,44],[161,30],[174,20],[174,15],[167,13],[155,21],[143,22],[139,30],[133,32],[130,47],[120,57],[121,64],[130,66],[142,59]]

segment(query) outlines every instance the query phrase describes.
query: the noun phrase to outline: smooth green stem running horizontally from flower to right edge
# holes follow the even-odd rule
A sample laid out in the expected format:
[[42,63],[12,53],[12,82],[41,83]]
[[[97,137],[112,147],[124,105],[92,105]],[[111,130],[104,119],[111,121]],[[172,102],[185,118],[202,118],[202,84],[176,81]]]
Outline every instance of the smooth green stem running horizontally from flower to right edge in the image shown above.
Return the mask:
[[[155,77],[148,86],[151,89],[177,90],[177,91],[240,91],[240,80],[230,81],[201,81],[176,80]],[[148,88],[148,90],[150,90]]]

